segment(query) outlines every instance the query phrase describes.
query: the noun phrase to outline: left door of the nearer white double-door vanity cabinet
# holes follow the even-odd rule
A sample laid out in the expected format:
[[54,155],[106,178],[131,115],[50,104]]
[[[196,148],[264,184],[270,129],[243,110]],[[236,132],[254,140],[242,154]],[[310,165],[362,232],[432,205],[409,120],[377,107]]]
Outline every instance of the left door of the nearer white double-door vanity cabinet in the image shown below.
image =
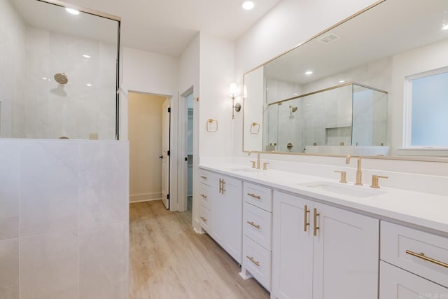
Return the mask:
[[[307,205],[309,213],[305,213]],[[274,298],[312,298],[313,202],[274,191],[272,213],[272,295]],[[304,231],[305,214],[307,231]],[[337,298],[337,297],[333,297]]]

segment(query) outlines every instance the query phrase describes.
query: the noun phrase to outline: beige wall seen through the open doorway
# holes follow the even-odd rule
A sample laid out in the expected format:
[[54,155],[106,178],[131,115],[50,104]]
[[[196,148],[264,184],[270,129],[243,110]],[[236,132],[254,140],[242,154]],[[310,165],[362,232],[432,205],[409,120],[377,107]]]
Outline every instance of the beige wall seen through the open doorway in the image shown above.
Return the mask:
[[162,104],[166,97],[129,93],[130,202],[162,198]]

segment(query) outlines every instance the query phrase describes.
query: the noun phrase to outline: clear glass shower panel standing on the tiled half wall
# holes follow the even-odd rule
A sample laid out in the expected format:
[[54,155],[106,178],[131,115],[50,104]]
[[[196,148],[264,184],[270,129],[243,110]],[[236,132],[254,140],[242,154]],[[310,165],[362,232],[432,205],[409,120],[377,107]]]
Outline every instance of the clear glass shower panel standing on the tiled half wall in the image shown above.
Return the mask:
[[117,139],[119,32],[60,1],[0,0],[0,137]]

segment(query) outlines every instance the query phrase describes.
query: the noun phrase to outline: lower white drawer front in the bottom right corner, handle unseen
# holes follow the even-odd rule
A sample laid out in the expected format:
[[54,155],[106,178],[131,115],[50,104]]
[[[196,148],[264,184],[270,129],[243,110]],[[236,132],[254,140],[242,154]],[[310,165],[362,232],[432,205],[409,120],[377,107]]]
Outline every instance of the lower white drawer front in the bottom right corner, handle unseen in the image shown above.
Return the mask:
[[448,298],[448,288],[380,262],[379,299]]

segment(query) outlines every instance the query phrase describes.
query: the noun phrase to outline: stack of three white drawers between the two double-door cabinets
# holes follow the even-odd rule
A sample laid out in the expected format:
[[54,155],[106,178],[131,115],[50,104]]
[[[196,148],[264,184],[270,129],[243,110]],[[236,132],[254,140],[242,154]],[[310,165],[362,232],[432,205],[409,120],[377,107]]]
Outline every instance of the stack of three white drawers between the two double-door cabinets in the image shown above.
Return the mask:
[[271,289],[272,189],[244,181],[241,277]]

